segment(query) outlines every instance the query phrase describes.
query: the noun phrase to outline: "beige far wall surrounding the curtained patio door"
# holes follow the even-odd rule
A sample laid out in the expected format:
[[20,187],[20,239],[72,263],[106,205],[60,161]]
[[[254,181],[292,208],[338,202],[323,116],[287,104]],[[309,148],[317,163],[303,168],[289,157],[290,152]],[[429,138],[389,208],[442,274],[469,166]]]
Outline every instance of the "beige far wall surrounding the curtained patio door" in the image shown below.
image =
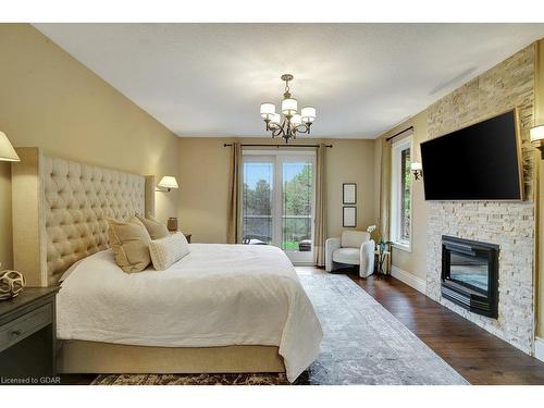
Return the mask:
[[[231,148],[223,144],[272,143],[268,138],[181,138],[180,152],[180,226],[191,233],[194,242],[225,243],[228,201]],[[305,140],[308,141],[308,140]],[[375,223],[373,140],[319,140],[334,145],[327,149],[329,235],[342,232],[342,183],[358,187],[357,230]],[[276,143],[276,141],[274,141]]]

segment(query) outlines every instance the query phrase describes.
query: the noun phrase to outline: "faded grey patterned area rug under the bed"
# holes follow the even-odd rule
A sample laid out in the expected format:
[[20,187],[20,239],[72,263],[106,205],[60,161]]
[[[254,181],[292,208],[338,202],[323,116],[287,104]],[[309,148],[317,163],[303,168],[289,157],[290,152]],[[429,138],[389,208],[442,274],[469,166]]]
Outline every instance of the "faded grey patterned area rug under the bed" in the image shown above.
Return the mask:
[[[345,275],[300,275],[323,325],[321,354],[296,384],[468,384]],[[287,385],[284,374],[112,374],[95,385]]]

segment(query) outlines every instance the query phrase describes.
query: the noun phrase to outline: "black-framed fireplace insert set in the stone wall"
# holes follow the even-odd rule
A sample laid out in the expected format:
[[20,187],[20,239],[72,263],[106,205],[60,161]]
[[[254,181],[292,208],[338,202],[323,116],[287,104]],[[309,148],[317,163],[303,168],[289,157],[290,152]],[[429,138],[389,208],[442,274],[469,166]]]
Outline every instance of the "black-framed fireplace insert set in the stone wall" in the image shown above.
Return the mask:
[[473,313],[497,318],[497,245],[442,236],[442,296]]

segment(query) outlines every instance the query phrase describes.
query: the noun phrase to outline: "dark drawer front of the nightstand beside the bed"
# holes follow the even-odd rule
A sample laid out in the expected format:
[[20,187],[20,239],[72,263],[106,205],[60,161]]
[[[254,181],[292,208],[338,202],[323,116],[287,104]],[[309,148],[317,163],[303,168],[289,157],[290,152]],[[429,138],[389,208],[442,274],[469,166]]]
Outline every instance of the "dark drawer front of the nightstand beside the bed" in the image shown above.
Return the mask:
[[11,347],[52,322],[52,305],[48,304],[0,326],[0,351]]

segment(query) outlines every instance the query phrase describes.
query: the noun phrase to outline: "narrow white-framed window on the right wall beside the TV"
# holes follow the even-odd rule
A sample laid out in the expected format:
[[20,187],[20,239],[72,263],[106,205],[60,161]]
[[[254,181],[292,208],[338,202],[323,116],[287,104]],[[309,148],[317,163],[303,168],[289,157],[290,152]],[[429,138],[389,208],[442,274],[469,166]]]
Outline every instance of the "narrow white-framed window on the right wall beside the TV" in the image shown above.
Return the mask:
[[393,144],[391,172],[391,239],[411,250],[411,136]]

